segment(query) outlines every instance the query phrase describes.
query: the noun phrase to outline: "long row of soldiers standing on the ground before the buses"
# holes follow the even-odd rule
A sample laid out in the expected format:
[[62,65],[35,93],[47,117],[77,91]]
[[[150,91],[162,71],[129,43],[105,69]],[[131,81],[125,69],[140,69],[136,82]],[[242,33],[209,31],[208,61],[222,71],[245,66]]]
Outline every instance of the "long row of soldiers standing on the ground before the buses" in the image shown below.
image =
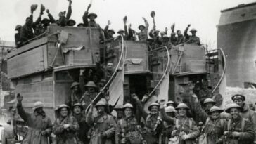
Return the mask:
[[[222,110],[212,98],[206,98],[201,105],[193,91],[191,84],[189,103],[160,100],[148,106],[149,113],[136,94],[131,95],[133,103],[114,108],[106,98],[97,103],[89,100],[88,112],[77,99],[72,105],[58,105],[53,123],[45,114],[43,103],[34,103],[34,113],[29,114],[23,110],[23,97],[17,94],[18,114],[29,126],[23,144],[48,143],[51,133],[56,136],[52,143],[58,144],[255,143],[256,113],[245,103],[245,96],[232,96],[233,103]],[[115,117],[112,111],[117,113]]]

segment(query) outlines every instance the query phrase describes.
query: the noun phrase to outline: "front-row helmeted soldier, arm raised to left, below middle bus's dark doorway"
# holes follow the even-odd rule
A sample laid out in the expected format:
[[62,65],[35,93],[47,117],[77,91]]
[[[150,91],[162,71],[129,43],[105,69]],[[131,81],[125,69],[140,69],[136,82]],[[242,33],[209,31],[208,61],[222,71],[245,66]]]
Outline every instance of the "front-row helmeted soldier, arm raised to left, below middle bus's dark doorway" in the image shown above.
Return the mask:
[[148,144],[155,144],[158,143],[158,135],[160,133],[160,129],[162,126],[162,121],[159,117],[159,104],[158,103],[151,103],[148,107],[148,111],[150,111],[149,114],[143,110],[143,105],[141,101],[139,100],[138,96],[136,94],[132,94],[132,98],[136,101],[137,110],[139,112],[136,112],[137,114],[141,114],[143,119],[146,119],[144,129],[146,130],[146,142]]

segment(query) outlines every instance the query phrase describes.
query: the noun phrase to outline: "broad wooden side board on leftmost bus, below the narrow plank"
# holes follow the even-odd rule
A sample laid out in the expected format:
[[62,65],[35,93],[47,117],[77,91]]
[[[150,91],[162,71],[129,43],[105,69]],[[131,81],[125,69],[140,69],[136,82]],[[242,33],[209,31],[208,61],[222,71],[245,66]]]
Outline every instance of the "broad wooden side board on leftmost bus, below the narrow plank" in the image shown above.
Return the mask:
[[44,71],[43,48],[35,48],[8,59],[8,77],[21,77]]

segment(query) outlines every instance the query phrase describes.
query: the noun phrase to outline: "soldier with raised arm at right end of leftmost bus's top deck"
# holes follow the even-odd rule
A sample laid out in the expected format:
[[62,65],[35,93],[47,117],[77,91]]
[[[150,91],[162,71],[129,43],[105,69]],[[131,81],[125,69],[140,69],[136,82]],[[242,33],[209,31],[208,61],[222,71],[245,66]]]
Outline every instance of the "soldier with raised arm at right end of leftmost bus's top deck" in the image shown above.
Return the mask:
[[[97,18],[96,13],[89,13],[89,15],[88,15],[88,11],[90,8],[91,8],[91,4],[89,4],[89,6],[87,7],[87,11],[84,12],[84,15],[83,15],[84,26],[85,27],[100,27],[100,25],[98,25],[95,22],[95,19]],[[88,21],[88,18],[90,19],[90,21]]]

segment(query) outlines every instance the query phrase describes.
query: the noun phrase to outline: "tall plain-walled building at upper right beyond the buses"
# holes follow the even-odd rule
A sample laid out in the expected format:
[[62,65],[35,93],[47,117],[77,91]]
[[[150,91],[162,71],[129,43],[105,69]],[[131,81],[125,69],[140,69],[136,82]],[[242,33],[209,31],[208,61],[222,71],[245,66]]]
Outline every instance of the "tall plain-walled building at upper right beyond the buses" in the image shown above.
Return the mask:
[[217,46],[226,54],[226,86],[256,87],[256,3],[222,11]]

